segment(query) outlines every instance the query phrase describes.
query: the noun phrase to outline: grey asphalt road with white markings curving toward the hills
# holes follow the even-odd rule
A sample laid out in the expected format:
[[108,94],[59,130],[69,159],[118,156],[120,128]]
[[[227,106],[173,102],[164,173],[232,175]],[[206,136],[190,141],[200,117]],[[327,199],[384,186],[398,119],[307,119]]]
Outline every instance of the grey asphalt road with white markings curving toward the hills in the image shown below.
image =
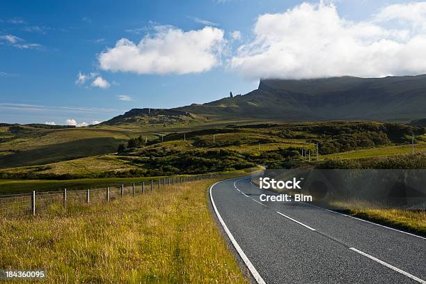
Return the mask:
[[210,188],[214,214],[258,283],[426,283],[425,238],[306,203],[261,203],[265,193],[250,178]]

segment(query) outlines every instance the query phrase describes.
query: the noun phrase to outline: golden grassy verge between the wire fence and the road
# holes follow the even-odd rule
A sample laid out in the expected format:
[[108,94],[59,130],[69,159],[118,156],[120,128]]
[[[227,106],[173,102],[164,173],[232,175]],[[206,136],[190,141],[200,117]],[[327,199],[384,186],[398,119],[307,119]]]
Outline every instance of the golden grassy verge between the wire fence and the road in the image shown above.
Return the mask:
[[246,283],[208,209],[215,180],[0,219],[0,267],[46,283]]

